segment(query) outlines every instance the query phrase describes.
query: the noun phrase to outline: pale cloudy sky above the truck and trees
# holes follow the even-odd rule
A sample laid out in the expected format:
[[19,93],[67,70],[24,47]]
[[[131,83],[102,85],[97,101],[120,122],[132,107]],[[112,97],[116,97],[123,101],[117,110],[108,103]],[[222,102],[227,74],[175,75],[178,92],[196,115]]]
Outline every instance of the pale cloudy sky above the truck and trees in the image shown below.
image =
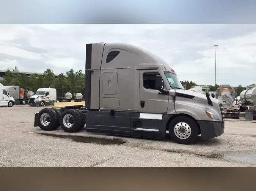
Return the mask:
[[86,43],[122,42],[199,85],[256,83],[256,24],[0,24],[0,70],[85,71]]

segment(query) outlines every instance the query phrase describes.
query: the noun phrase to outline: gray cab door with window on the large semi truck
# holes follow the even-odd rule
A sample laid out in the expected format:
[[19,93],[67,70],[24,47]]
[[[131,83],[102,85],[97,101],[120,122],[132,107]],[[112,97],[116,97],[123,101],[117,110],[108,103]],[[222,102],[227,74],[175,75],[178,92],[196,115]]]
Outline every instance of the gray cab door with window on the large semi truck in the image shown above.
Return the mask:
[[[139,111],[164,114],[168,109],[169,95],[159,94],[155,89],[157,70],[140,71]],[[164,85],[163,85],[164,88]]]

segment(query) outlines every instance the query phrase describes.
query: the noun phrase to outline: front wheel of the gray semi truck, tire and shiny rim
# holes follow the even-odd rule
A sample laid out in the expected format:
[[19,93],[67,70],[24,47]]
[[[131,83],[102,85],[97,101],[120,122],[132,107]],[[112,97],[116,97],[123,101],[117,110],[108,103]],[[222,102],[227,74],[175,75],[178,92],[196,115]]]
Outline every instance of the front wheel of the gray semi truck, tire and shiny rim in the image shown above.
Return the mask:
[[179,144],[192,144],[195,142],[196,137],[198,136],[198,126],[196,122],[190,117],[186,116],[179,116],[171,120],[168,130],[171,139],[175,143]]

